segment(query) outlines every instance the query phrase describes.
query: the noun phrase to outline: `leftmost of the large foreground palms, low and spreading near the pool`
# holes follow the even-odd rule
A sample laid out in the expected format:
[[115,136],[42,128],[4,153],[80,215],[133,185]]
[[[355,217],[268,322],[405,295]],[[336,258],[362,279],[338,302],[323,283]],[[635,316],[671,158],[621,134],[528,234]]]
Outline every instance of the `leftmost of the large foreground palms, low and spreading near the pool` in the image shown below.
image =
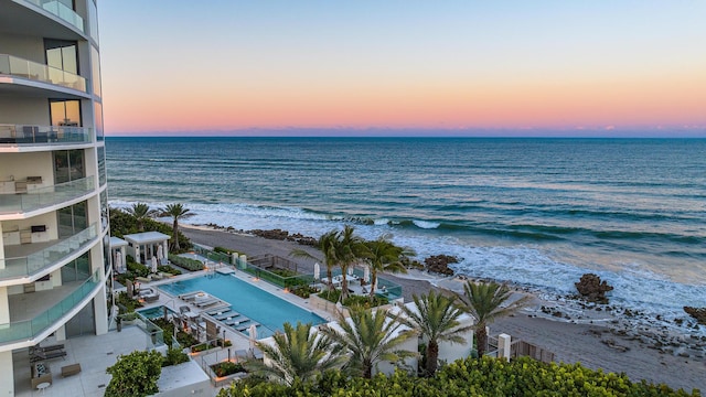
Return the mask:
[[285,323],[285,333],[277,332],[275,345],[256,342],[263,355],[270,362],[249,363],[256,374],[275,376],[291,385],[295,379],[309,380],[317,374],[341,366],[345,357],[343,347],[333,343],[331,337],[311,331],[311,323],[297,322],[297,328]]

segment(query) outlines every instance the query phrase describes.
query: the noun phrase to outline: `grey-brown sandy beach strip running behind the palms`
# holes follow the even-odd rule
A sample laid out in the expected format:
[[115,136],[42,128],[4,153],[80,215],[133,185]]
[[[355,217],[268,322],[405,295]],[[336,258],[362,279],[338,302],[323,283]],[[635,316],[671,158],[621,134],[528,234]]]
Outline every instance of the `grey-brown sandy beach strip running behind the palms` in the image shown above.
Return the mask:
[[[206,226],[181,225],[180,232],[192,242],[208,247],[225,247],[246,254],[248,257],[271,254],[297,261],[300,272],[313,272],[314,260],[292,258],[292,249],[306,249],[314,256],[320,253],[292,242],[265,239],[247,234],[225,232]],[[442,254],[442,253],[439,253]],[[322,271],[325,268],[322,267]],[[385,275],[385,278],[403,287],[405,302],[411,301],[413,292],[422,294],[435,288],[439,277],[418,275]],[[418,278],[415,278],[418,277]],[[430,282],[431,281],[431,282]],[[447,286],[448,283],[445,283]],[[534,305],[543,302],[535,298]],[[500,319],[491,324],[491,335],[510,334],[513,340],[522,339],[528,343],[554,352],[557,362],[576,363],[603,372],[625,373],[631,380],[646,379],[664,383],[673,388],[691,391],[706,390],[706,360],[703,357],[683,357],[663,353],[653,346],[629,335],[621,335],[610,326],[576,324],[555,319],[537,316],[534,313],[518,312],[513,316]]]

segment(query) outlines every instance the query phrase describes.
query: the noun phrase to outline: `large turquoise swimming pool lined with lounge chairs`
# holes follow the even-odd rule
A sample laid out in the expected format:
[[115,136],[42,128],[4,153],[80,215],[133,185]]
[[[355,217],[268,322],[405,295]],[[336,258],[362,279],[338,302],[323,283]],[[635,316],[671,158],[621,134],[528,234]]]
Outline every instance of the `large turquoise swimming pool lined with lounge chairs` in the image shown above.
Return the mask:
[[232,275],[202,276],[162,285],[159,288],[174,297],[199,290],[217,297],[231,303],[234,311],[260,323],[261,326],[258,328],[260,337],[271,336],[276,331],[281,331],[286,322],[292,325],[296,325],[297,321],[310,322],[313,325],[325,322],[321,316]]

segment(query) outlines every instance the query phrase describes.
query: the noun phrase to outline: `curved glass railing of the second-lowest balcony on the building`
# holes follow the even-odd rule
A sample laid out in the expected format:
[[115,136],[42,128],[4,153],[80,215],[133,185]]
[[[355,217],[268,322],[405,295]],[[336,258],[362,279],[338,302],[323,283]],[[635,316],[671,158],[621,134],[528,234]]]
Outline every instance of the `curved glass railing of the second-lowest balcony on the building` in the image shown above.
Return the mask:
[[69,257],[96,238],[97,226],[93,224],[66,239],[25,257],[0,259],[0,265],[3,265],[0,267],[0,280],[32,276]]

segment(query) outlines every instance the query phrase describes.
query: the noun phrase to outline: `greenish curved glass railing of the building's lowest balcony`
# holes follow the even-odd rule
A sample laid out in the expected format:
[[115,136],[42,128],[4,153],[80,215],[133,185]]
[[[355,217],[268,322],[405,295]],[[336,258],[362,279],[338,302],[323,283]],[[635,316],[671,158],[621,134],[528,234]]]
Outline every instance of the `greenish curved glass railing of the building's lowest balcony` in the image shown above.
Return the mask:
[[[66,315],[81,301],[93,292],[96,287],[100,286],[100,273],[96,270],[86,281],[77,289],[62,299],[58,303],[52,305],[32,320],[15,321],[9,324],[0,324],[0,343],[9,343],[13,341],[30,340],[39,335],[40,332],[46,330],[56,323],[61,318]],[[41,292],[38,292],[41,293]]]

